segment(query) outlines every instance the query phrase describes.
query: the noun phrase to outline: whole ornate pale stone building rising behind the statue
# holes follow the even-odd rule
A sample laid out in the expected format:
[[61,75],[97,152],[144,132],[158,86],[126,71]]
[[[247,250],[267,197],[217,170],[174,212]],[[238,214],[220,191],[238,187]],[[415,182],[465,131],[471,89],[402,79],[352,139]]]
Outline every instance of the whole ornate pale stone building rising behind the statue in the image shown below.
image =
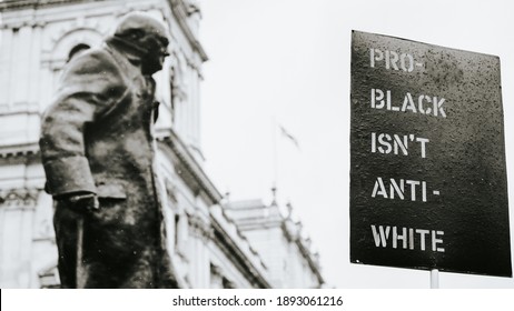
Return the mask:
[[[265,248],[254,239],[254,245],[253,233],[241,230],[243,210],[230,210],[202,169],[199,84],[207,54],[198,41],[201,13],[192,0],[0,2],[0,287],[59,284],[52,202],[42,190],[40,116],[66,62],[99,44],[116,20],[134,10],[164,20],[171,33],[171,56],[155,76],[161,102],[156,160],[166,189],[168,251],[181,287],[320,287],[316,257],[305,241],[287,238]],[[283,222],[288,225],[287,218]],[[284,255],[275,248],[287,243],[298,248],[299,262],[307,262],[298,270],[308,275],[302,282],[269,260],[271,253]]]

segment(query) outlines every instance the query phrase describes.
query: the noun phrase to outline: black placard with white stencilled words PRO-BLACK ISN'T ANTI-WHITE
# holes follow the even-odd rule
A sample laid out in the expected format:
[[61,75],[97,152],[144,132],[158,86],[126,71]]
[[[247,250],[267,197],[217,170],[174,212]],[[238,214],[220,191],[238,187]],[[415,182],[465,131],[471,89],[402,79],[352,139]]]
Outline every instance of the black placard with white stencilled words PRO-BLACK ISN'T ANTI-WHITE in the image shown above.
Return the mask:
[[512,277],[500,59],[354,31],[350,261]]

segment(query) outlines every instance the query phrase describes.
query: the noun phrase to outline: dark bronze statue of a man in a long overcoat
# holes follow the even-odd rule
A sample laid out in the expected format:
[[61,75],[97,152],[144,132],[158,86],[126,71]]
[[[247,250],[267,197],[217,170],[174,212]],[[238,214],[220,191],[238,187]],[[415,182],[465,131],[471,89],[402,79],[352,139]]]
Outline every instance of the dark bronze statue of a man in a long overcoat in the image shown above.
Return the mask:
[[167,28],[129,13],[65,68],[42,119],[62,288],[176,288],[154,169]]

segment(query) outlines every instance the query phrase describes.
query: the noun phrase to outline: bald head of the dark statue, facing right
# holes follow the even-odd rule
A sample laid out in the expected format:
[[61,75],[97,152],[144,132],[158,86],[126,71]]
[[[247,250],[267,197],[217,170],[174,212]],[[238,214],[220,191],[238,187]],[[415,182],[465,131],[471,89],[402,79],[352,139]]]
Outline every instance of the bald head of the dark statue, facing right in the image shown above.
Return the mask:
[[142,12],[131,12],[121,18],[115,38],[129,43],[142,53],[141,67],[145,74],[162,69],[168,53],[166,26],[154,17]]

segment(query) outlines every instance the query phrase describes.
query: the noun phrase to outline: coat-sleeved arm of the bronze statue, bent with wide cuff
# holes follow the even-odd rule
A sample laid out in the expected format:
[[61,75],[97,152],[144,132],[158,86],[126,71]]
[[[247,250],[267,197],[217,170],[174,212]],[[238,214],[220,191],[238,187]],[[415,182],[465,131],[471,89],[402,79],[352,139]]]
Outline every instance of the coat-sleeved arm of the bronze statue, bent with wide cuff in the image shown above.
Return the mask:
[[66,69],[41,121],[39,144],[50,194],[96,193],[83,131],[126,91],[119,69],[106,53],[80,56]]

